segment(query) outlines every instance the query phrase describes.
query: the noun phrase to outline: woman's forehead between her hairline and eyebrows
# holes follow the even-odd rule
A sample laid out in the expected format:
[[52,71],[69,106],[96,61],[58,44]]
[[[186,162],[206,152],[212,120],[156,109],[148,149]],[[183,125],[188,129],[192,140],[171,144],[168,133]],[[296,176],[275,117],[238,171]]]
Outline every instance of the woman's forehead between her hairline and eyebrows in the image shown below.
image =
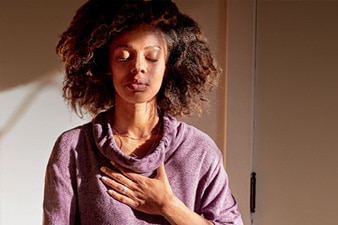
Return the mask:
[[126,48],[149,48],[158,47],[166,50],[167,43],[164,34],[150,26],[140,25],[124,32],[114,38],[110,44],[111,49]]

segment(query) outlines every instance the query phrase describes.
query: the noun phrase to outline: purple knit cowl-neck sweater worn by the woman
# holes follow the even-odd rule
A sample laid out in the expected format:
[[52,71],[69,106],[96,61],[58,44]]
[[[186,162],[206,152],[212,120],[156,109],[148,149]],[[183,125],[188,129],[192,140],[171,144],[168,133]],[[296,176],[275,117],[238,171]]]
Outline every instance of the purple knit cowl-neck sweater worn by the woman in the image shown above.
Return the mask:
[[112,110],[63,133],[51,153],[45,178],[44,224],[169,224],[124,205],[107,194],[100,168],[110,161],[144,176],[161,162],[174,194],[215,225],[242,225],[228,184],[222,155],[209,136],[173,117],[163,118],[163,138],[142,159],[122,153],[114,142]]

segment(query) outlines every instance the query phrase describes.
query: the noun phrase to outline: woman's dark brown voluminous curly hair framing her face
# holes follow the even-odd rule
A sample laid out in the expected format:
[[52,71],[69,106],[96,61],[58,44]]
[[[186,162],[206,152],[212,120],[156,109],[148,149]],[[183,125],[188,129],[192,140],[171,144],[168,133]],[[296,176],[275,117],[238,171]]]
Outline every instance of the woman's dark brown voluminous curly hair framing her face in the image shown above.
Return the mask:
[[167,76],[157,95],[160,111],[172,116],[201,112],[221,69],[199,25],[170,0],[89,0],[56,47],[65,63],[63,97],[79,115],[114,106],[109,44],[141,24],[164,33],[168,45]]

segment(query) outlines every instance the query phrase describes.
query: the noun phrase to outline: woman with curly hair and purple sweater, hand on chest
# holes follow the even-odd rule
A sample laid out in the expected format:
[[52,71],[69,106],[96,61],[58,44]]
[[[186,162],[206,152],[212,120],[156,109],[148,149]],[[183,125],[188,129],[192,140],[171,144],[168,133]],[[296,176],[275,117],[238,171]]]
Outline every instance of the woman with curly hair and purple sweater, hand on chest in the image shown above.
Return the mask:
[[94,115],[47,165],[44,224],[242,224],[200,112],[220,69],[171,1],[90,0],[57,46],[64,97]]

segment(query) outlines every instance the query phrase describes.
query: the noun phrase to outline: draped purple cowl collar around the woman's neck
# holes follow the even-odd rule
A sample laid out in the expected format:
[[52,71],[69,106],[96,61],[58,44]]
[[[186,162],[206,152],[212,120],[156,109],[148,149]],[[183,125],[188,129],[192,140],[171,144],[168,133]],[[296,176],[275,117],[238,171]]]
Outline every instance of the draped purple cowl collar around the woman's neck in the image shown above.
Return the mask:
[[163,116],[163,136],[152,152],[143,158],[135,158],[123,153],[117,146],[113,136],[114,109],[102,112],[93,121],[93,135],[98,150],[110,161],[144,176],[153,176],[156,169],[165,160],[165,149],[169,137],[169,118]]

